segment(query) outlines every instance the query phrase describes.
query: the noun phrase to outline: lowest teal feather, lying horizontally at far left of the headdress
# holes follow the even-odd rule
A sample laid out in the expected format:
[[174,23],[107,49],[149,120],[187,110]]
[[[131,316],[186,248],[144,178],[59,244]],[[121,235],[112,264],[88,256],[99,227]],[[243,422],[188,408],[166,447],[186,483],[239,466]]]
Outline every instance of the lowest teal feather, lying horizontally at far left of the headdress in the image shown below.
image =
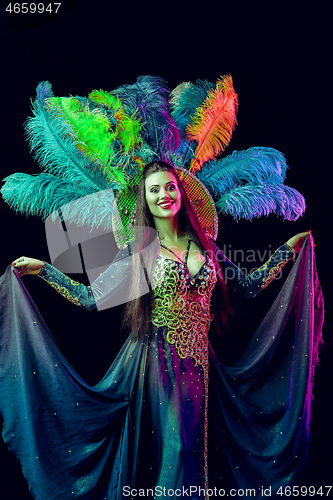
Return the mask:
[[12,174],[4,179],[3,199],[16,212],[47,218],[61,209],[65,220],[89,227],[110,228],[114,213],[112,189],[96,192],[87,184],[41,173]]

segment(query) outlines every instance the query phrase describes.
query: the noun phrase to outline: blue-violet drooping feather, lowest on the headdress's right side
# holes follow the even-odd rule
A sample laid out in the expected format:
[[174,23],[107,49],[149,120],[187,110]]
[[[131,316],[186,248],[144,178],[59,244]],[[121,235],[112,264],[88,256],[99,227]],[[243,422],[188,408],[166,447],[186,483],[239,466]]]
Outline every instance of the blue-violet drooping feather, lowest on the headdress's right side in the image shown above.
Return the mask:
[[276,213],[291,221],[303,215],[306,208],[303,196],[284,184],[235,187],[222,195],[216,207],[237,220]]

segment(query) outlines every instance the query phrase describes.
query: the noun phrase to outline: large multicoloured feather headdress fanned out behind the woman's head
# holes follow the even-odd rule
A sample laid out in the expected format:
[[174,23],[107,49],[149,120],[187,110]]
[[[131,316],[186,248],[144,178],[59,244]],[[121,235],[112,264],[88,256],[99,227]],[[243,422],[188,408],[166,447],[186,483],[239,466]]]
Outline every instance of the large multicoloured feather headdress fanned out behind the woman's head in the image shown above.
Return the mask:
[[182,83],[171,94],[152,76],[111,92],[94,90],[88,97],[55,97],[51,84],[42,82],[25,124],[42,172],[10,175],[2,196],[27,215],[46,218],[59,211],[67,222],[113,227],[121,247],[131,238],[143,167],[160,159],[175,165],[213,239],[216,209],[235,219],[275,213],[296,220],[305,201],[284,184],[282,153],[253,147],[221,158],[237,124],[237,108],[230,75],[216,85]]

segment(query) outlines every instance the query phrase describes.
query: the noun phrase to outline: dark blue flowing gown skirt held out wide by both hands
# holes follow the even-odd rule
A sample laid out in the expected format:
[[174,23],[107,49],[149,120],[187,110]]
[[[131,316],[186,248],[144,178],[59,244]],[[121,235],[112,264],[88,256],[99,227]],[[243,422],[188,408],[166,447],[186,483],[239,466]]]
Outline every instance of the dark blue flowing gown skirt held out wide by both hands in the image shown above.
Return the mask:
[[3,439],[36,499],[273,497],[299,481],[323,322],[311,238],[241,359],[223,366],[210,350],[208,492],[203,369],[166,328],[129,337],[90,387],[11,267],[0,294]]

